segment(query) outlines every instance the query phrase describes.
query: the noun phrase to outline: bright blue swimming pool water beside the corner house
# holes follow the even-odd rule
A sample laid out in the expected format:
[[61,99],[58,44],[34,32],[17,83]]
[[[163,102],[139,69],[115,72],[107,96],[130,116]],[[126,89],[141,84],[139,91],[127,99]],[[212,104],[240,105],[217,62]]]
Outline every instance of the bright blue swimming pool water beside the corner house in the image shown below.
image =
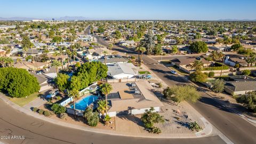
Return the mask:
[[[83,98],[82,100],[79,100],[76,102],[76,109],[79,110],[85,110],[85,108],[89,105],[91,105],[91,103],[93,102],[93,100],[97,100],[98,96],[95,95],[89,95],[85,98]],[[74,108],[74,105],[71,105],[70,108]]]

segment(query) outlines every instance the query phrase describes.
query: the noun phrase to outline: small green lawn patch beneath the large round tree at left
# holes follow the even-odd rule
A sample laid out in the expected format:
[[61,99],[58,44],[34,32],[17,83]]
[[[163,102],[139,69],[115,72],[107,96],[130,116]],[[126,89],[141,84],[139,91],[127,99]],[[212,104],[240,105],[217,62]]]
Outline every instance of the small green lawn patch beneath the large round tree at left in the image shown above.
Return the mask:
[[30,101],[33,101],[34,99],[36,99],[37,97],[39,97],[39,93],[38,92],[30,94],[27,98],[10,98],[10,97],[8,97],[8,99],[10,101],[16,103],[17,105],[23,107],[27,103],[29,103]]

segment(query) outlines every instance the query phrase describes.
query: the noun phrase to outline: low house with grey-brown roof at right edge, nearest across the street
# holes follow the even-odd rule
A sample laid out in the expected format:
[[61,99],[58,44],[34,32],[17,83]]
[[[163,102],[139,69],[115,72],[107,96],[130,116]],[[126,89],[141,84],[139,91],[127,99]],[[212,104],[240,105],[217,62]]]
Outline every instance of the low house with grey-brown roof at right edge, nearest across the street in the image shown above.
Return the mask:
[[229,78],[230,81],[226,82],[224,90],[231,95],[256,91],[256,79],[248,76],[229,76]]

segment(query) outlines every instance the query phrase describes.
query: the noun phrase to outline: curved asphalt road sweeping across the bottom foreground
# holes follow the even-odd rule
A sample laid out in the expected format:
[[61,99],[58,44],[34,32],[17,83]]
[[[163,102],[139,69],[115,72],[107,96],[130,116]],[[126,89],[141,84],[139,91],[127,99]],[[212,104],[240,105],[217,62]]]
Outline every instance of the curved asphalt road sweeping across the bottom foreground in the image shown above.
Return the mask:
[[[122,137],[109,134],[85,132],[42,121],[20,111],[0,100],[0,136],[18,135],[25,139],[1,139],[6,143],[225,143],[218,136],[199,139],[151,139]],[[6,138],[5,137],[5,138]],[[0,142],[1,143],[1,142]]]

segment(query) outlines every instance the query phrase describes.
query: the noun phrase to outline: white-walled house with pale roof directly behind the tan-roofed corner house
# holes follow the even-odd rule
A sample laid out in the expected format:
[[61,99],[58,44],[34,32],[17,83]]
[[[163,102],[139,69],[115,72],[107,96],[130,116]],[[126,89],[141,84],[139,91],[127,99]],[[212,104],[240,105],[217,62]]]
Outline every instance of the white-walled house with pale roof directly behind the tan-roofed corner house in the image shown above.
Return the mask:
[[111,78],[132,78],[136,75],[138,75],[138,71],[132,63],[118,63],[117,65],[108,65],[108,76]]

